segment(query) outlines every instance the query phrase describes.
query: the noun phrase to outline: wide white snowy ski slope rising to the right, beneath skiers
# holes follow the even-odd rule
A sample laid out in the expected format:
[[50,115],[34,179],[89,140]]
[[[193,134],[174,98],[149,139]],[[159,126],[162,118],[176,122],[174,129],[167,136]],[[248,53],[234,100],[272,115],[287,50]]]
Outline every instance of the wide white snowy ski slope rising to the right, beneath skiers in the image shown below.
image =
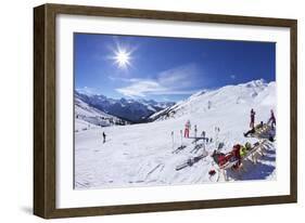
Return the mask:
[[[86,131],[75,132],[75,188],[209,183],[208,171],[215,169],[209,156],[213,150],[219,143],[224,145],[223,153],[231,150],[237,143],[255,143],[256,139],[243,136],[249,130],[250,110],[256,112],[256,123],[266,122],[270,109],[277,114],[276,101],[276,83],[255,80],[193,94],[153,122],[106,128],[91,126]],[[203,148],[191,153],[193,140],[181,137],[180,130],[187,120],[192,126],[191,136],[194,136],[196,124],[198,135],[205,131],[213,142],[205,145],[208,156],[176,171],[177,166],[203,153]],[[219,133],[215,132],[215,127],[220,128]],[[173,154],[181,143],[186,148]],[[256,165],[249,161],[245,166],[247,171],[242,174],[229,172],[230,181],[274,180],[276,144],[268,146],[266,156]],[[220,178],[219,181],[225,180]]]

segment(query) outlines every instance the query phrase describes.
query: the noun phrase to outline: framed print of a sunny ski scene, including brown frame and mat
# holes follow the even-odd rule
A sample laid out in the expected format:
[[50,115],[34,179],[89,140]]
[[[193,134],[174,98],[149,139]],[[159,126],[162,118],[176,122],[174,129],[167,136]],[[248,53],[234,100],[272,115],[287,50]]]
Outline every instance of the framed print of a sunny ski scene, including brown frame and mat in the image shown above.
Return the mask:
[[296,21],[34,9],[34,213],[296,202]]

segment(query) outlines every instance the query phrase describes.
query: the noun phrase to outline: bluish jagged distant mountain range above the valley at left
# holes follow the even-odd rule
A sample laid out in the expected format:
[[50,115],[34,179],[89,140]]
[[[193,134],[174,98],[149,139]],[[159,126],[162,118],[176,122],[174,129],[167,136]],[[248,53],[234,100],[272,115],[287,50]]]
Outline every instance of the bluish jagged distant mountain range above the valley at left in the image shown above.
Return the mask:
[[132,123],[145,122],[153,114],[175,105],[173,102],[155,102],[153,100],[114,100],[102,94],[88,95],[75,91],[76,106],[80,104],[79,102]]

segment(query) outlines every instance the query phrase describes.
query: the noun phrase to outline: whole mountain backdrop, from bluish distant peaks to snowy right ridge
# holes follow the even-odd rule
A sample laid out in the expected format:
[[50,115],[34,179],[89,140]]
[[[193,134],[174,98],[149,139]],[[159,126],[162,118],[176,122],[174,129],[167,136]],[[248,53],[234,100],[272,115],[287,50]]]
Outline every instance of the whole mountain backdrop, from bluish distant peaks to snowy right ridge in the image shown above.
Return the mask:
[[[75,91],[75,110],[82,120],[98,126],[158,121],[194,112],[219,108],[227,104],[244,104],[258,99],[258,94],[264,95],[263,92],[274,89],[275,84],[275,82],[253,80],[237,86],[225,86],[217,90],[203,90],[177,103],[153,100],[114,100],[101,94],[87,95]],[[271,103],[268,102],[268,95],[259,100],[265,104]],[[85,108],[87,112],[90,110],[90,115],[82,112]]]

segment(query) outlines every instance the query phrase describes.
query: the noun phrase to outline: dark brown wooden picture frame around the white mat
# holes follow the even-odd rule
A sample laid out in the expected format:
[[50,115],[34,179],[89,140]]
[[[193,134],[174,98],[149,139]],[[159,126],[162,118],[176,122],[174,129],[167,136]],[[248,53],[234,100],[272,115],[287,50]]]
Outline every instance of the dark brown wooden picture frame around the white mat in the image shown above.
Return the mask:
[[[233,199],[185,200],[85,208],[56,208],[56,87],[55,18],[59,14],[139,19],[239,24],[290,29],[290,194]],[[232,15],[43,4],[34,9],[34,214],[45,219],[153,211],[174,211],[296,202],[297,199],[297,80],[295,19]]]

